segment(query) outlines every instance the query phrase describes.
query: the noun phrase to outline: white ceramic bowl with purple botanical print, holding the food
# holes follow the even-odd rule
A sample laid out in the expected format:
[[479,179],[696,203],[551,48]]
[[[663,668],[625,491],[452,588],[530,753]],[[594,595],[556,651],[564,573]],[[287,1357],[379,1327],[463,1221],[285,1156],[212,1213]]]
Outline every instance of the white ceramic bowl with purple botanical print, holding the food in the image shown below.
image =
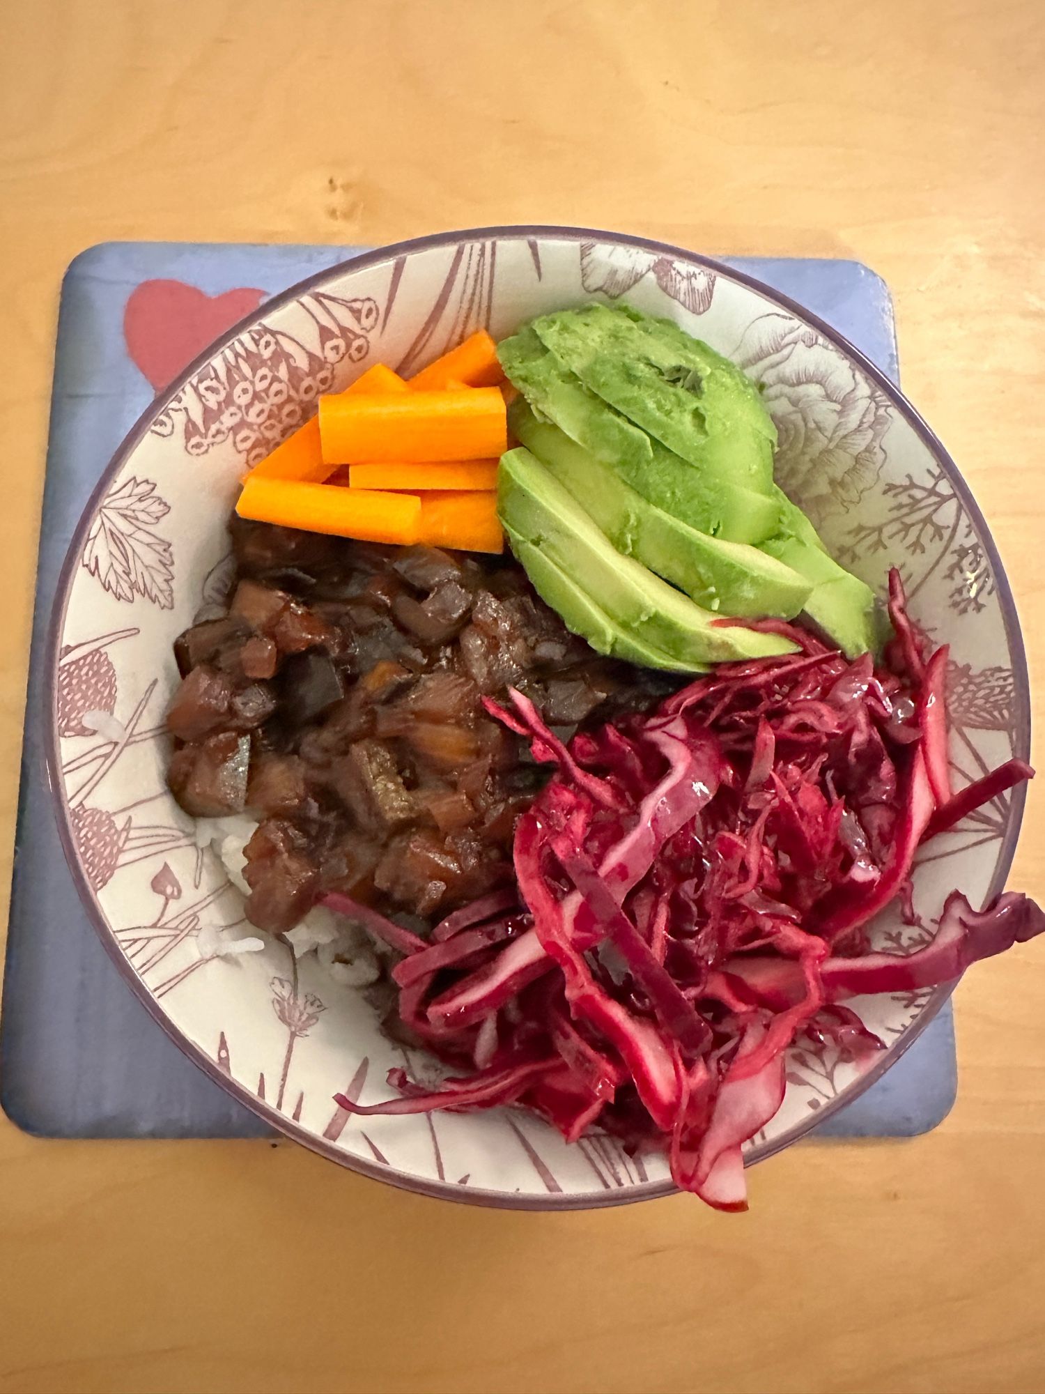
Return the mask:
[[[669,315],[764,385],[777,478],[832,552],[879,592],[901,567],[915,622],[950,644],[952,760],[959,783],[1027,757],[1027,673],[1009,587],[968,488],[903,396],[826,325],[765,286],[674,247],[613,233],[502,227],[369,252],[263,304],[149,407],[104,473],[59,585],[50,651],[52,785],[65,853],[91,919],[127,983],[203,1071],[325,1157],[447,1199],[570,1209],[672,1190],[665,1161],[609,1138],[567,1146],[517,1111],[350,1118],[333,1097],[387,1097],[404,1052],[361,994],[279,942],[217,951],[247,933],[242,899],[196,846],[164,783],[163,714],[177,684],[171,641],[219,606],[230,577],[226,519],[244,468],[369,364],[411,374],[485,325],[620,297]],[[927,924],[960,887],[1000,891],[1023,792],[982,809],[924,852],[914,877]],[[237,928],[238,927],[238,928]],[[895,914],[878,947],[924,941]],[[748,1146],[761,1160],[836,1112],[892,1065],[946,988],[851,1004],[889,1046],[858,1078],[832,1048],[793,1052],[787,1094]],[[410,1052],[421,1080],[435,1064]]]

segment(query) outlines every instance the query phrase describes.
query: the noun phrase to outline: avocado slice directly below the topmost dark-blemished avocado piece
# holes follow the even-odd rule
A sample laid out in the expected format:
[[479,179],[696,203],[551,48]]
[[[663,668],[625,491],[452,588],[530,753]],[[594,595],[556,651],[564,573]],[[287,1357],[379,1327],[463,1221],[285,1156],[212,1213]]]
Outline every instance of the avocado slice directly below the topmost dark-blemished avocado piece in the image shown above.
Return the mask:
[[513,403],[509,410],[509,427],[517,436],[528,403],[538,420],[555,422],[596,460],[613,466],[644,499],[698,533],[727,542],[758,544],[780,531],[780,509],[791,506],[783,493],[762,495],[741,485],[723,487],[694,470],[588,392],[532,329],[506,339],[497,346],[497,354],[504,372],[527,399]]

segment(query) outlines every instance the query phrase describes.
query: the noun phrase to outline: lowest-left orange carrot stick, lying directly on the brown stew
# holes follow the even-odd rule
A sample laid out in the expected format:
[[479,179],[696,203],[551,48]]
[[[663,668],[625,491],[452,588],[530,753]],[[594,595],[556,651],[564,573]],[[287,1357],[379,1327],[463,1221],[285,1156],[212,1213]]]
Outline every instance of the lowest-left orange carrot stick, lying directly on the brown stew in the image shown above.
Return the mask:
[[305,533],[408,545],[417,541],[421,500],[414,493],[339,489],[333,484],[300,484],[251,475],[242,487],[235,512],[241,519],[279,523]]

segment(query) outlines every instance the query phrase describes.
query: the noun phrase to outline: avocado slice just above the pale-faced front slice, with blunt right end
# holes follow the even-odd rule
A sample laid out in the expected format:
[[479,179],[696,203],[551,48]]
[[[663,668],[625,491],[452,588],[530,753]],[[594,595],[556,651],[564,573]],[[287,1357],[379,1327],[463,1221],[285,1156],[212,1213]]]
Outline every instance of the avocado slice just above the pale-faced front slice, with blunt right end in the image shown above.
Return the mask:
[[790,566],[754,546],[706,537],[680,523],[557,427],[538,421],[525,403],[514,403],[511,429],[617,551],[679,585],[705,609],[793,619],[805,604],[812,584]]

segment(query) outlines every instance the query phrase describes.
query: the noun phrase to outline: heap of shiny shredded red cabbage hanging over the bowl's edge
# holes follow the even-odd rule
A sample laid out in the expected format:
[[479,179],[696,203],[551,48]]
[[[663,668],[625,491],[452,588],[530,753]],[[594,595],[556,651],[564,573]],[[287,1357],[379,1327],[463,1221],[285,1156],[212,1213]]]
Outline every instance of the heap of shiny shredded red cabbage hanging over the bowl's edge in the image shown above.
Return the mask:
[[950,981],[1045,931],[1023,895],[975,912],[954,892],[925,948],[868,948],[882,909],[913,914],[918,846],[1034,774],[1013,760],[952,792],[947,650],[925,658],[896,572],[889,612],[889,668],[775,620],[797,655],[725,664],[568,744],[520,693],[514,712],[488,703],[556,765],[517,824],[517,889],[431,942],[326,898],[403,955],[400,1016],[470,1072],[425,1093],[393,1071],[401,1097],[339,1103],[518,1104],[570,1142],[598,1124],[663,1149],[709,1204],[745,1209],[741,1149],[780,1107],[796,1040],[865,1068],[883,1047],[843,999]]

